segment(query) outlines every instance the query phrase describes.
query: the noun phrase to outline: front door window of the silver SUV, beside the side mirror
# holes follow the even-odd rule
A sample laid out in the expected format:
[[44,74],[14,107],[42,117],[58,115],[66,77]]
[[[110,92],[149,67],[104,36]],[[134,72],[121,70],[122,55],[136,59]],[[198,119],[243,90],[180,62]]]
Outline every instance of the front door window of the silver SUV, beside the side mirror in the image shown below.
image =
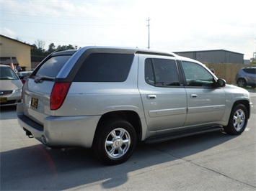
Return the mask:
[[195,62],[182,61],[187,86],[213,87],[213,76],[206,68]]

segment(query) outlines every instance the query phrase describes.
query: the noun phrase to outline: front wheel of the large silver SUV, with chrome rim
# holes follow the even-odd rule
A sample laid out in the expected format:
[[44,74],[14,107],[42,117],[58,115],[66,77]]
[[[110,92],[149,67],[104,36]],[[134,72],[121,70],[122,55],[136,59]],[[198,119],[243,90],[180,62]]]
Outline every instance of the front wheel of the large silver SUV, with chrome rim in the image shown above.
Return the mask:
[[230,113],[229,124],[224,126],[226,134],[239,135],[242,134],[247,126],[248,111],[244,105],[239,104],[234,106]]

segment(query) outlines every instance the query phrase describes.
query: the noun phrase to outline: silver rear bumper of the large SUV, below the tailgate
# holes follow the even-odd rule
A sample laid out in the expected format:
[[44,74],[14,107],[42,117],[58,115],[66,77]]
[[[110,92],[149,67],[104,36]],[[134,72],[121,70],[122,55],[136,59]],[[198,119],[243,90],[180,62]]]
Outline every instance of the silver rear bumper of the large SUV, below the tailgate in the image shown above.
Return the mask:
[[19,126],[29,131],[38,141],[47,146],[92,146],[100,116],[48,116],[43,125],[24,115],[23,105],[17,105]]

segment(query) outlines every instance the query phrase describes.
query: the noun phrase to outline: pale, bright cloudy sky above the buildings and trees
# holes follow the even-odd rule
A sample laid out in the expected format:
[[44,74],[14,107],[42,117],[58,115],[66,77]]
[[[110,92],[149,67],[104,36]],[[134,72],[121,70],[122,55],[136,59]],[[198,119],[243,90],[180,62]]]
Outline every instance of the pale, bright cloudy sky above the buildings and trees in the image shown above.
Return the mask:
[[255,0],[0,1],[1,34],[30,45],[40,39],[45,50],[53,42],[140,48],[149,43],[171,52],[224,49],[244,59],[256,52]]

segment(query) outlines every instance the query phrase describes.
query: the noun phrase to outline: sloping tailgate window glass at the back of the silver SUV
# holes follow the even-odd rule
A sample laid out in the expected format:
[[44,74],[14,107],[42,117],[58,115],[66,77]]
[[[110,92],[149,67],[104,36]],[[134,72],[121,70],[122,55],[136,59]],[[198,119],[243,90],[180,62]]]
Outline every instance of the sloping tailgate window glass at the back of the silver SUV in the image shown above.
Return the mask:
[[56,78],[63,65],[69,60],[71,55],[50,57],[40,68],[35,75]]

